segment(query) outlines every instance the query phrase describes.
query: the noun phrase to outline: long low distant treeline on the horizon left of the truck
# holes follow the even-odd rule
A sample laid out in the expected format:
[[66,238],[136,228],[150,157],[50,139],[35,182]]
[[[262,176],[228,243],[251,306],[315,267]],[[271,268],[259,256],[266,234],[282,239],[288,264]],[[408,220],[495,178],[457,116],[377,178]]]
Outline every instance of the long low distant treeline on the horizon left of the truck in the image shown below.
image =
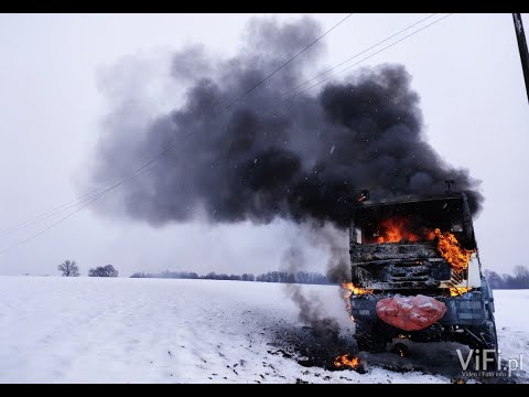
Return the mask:
[[253,273],[226,275],[214,271],[207,275],[198,275],[194,271],[162,271],[161,273],[136,272],[131,278],[176,278],[176,279],[204,279],[204,280],[237,280],[237,281],[260,281],[260,282],[289,282],[289,283],[311,283],[330,285],[328,279],[319,272],[298,271],[290,273],[287,271],[269,271],[255,276]]

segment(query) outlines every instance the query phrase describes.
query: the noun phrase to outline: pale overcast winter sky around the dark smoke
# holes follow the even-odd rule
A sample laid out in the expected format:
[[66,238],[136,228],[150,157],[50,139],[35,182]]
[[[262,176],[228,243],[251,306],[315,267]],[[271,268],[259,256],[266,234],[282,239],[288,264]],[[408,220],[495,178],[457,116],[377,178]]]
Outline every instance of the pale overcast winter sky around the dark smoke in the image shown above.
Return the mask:
[[[326,45],[322,67],[427,15],[353,14],[322,40]],[[132,81],[145,88],[156,111],[164,106],[156,89],[164,87],[149,84],[173,52],[197,43],[218,56],[230,56],[256,17],[270,15],[0,15],[0,251],[10,248],[0,254],[0,275],[57,275],[56,266],[65,259],[76,260],[82,275],[107,264],[121,276],[165,269],[257,273],[279,268],[285,249],[302,238],[283,221],[153,227],[88,206],[23,244],[19,243],[61,216],[1,233],[79,195],[110,110],[109,71],[122,67],[130,73],[126,65],[140,60],[141,73]],[[303,15],[273,17],[287,21]],[[311,17],[325,31],[346,14]],[[528,14],[522,18],[527,32]],[[483,181],[484,210],[474,226],[484,267],[509,272],[527,265],[520,251],[529,223],[525,174],[529,103],[511,14],[453,14],[359,66],[382,63],[402,64],[412,75],[433,148],[450,164],[467,168]],[[326,254],[310,245],[305,250],[307,267],[324,269]]]

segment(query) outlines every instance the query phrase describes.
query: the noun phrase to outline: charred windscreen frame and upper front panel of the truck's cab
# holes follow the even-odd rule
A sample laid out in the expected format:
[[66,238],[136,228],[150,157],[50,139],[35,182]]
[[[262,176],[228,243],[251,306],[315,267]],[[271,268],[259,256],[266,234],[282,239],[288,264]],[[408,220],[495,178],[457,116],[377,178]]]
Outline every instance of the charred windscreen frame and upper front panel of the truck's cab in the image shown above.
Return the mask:
[[[451,191],[443,195],[408,196],[397,200],[364,201],[357,203],[353,211],[349,228],[349,254],[352,262],[353,283],[380,290],[412,290],[436,289],[460,285],[467,278],[466,271],[453,271],[450,264],[439,255],[433,242],[421,243],[390,243],[390,244],[360,244],[357,224],[358,214],[366,208],[378,210],[384,206],[399,206],[417,203],[421,205],[454,204],[457,219],[461,219],[462,232],[460,238],[468,249],[476,248],[472,215],[468,208],[466,195],[462,192]],[[429,204],[430,203],[430,204]],[[444,204],[443,204],[444,203]],[[359,225],[364,227],[365,225]],[[443,230],[444,232],[444,230]],[[478,258],[477,258],[478,260]]]

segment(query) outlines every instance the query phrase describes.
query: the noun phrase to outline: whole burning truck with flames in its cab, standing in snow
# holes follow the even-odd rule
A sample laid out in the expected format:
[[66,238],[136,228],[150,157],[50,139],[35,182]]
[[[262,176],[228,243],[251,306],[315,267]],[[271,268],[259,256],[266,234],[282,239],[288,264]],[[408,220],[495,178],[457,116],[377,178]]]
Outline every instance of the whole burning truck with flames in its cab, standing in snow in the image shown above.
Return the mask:
[[393,337],[455,341],[498,360],[494,298],[465,193],[374,201],[363,191],[349,228],[352,282],[344,285],[359,351]]

